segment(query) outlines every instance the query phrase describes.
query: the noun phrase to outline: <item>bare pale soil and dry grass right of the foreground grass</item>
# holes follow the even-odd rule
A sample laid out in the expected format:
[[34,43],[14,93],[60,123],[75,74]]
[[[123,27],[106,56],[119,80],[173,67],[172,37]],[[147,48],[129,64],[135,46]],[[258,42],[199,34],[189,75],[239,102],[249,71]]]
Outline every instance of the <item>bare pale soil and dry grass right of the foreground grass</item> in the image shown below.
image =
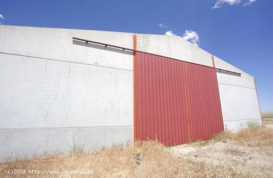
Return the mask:
[[273,113],[262,115],[263,127],[224,134],[219,141],[201,141],[169,147],[176,157],[184,157],[206,164],[225,165],[236,170],[250,170],[260,175],[273,175]]

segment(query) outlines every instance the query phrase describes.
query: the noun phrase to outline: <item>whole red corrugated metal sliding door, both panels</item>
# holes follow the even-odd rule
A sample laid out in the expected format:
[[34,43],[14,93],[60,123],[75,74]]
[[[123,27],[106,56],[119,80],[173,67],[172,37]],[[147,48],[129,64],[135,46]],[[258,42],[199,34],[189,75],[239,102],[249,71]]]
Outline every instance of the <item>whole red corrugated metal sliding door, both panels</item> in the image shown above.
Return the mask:
[[223,131],[214,68],[136,52],[136,138],[165,145]]

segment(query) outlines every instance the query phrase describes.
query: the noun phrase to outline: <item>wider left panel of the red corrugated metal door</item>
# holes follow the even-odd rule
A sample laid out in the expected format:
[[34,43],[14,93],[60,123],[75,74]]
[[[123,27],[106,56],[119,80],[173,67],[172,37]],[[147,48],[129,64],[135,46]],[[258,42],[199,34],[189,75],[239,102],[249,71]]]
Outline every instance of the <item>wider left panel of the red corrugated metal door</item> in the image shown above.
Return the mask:
[[188,142],[182,63],[136,52],[137,139]]

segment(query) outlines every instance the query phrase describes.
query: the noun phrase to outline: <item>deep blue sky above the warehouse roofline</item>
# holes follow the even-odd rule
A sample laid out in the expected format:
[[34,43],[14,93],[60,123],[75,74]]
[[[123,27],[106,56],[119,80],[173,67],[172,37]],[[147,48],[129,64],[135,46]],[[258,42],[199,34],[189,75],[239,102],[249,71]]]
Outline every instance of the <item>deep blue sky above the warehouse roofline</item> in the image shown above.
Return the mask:
[[273,0],[0,0],[0,23],[176,34],[254,76],[262,111],[273,111],[272,9]]

